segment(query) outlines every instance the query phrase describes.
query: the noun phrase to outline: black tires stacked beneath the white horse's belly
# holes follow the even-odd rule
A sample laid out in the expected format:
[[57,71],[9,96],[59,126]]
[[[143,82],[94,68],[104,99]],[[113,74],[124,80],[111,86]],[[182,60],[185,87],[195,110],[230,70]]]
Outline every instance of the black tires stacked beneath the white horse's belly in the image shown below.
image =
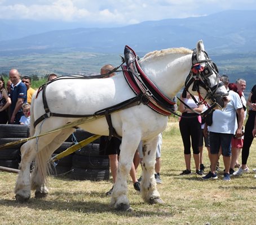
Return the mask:
[[[93,134],[76,129],[52,156],[65,151],[74,143],[85,140]],[[99,154],[99,139],[82,147],[80,150],[65,156],[56,161],[54,174],[67,173],[70,179],[101,181],[109,179],[109,159],[108,156]]]

